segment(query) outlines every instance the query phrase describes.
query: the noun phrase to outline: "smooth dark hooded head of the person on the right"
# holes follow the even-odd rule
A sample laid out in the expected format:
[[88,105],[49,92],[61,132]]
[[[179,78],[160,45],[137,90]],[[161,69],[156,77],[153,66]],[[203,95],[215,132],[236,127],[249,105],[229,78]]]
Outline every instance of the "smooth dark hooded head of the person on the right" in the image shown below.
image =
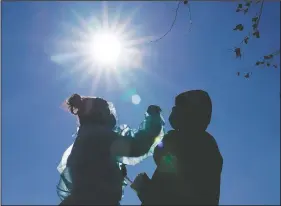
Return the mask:
[[169,121],[175,130],[205,131],[212,116],[212,102],[208,93],[190,90],[176,96]]

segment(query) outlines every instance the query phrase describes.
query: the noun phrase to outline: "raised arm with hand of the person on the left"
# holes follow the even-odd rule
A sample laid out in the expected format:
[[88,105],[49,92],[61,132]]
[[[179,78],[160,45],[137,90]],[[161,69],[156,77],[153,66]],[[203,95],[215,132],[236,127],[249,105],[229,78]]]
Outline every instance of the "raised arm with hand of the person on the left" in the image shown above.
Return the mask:
[[151,105],[138,130],[123,129],[116,133],[111,145],[111,153],[116,157],[140,157],[149,152],[156,138],[164,133],[164,120],[161,109]]

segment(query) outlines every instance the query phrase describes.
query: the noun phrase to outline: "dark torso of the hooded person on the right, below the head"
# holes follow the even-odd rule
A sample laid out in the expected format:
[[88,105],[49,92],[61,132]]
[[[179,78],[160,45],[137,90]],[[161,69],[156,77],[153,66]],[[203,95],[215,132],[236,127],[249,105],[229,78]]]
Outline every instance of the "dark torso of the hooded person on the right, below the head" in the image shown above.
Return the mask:
[[[213,191],[213,196],[219,196],[222,158],[211,135],[205,132],[199,137],[189,137],[172,131],[164,137],[163,146],[154,152],[157,169],[152,177],[153,187],[165,188],[170,197],[175,198],[172,202],[182,199],[185,202],[183,204],[191,201],[192,196],[204,196],[206,199],[206,195],[209,196]],[[167,156],[172,159],[168,166],[167,161],[163,161]],[[167,169],[169,165],[172,169]],[[187,196],[189,200],[185,198]]]

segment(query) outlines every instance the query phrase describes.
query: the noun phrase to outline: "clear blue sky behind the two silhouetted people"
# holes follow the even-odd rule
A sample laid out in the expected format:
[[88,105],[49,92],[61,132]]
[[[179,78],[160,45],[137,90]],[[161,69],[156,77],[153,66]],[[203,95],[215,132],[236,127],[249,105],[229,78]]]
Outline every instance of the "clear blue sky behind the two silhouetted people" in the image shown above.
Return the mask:
[[[108,3],[109,21],[120,4]],[[139,9],[131,25],[141,37],[165,33],[177,3],[122,5],[121,20]],[[71,34],[63,23],[78,24],[72,10],[100,18],[101,8],[97,2],[2,3],[2,204],[59,203],[56,167],[76,130],[75,118],[60,105],[72,93],[112,101],[120,123],[137,127],[149,104],[159,104],[167,119],[174,97],[189,89],[205,89],[213,99],[208,131],[224,157],[221,204],[280,204],[280,69],[251,66],[280,46],[279,3],[265,3],[261,39],[250,42],[245,57],[236,60],[229,49],[243,35],[232,28],[249,23],[251,16],[235,13],[235,3],[191,2],[190,33],[188,9],[181,7],[168,36],[140,45],[146,51],[143,65],[123,74],[126,87],[113,81],[114,75],[110,81],[102,76],[92,92],[91,75],[81,83],[82,71],[71,73],[71,65],[57,64],[51,55],[57,39]],[[250,80],[236,76],[248,69],[253,71]],[[139,105],[124,98],[132,89],[142,98]],[[154,168],[148,159],[130,167],[129,176],[143,171],[151,175]],[[127,188],[123,204],[138,203]]]

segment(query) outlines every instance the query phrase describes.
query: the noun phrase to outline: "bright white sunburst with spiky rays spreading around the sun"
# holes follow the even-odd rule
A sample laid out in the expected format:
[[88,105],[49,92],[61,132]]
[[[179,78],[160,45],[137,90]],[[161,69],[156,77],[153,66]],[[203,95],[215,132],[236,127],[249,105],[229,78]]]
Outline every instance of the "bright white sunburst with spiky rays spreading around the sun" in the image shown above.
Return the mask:
[[84,19],[78,13],[74,14],[79,26],[64,25],[66,34],[56,40],[57,54],[51,59],[65,66],[67,72],[78,74],[80,83],[94,78],[91,81],[95,89],[105,77],[103,83],[110,84],[114,78],[124,84],[120,77],[122,72],[142,67],[143,45],[152,37],[136,37],[137,32],[131,24],[135,11],[125,21],[121,20],[120,10],[110,19],[106,6],[101,21],[96,16]]

